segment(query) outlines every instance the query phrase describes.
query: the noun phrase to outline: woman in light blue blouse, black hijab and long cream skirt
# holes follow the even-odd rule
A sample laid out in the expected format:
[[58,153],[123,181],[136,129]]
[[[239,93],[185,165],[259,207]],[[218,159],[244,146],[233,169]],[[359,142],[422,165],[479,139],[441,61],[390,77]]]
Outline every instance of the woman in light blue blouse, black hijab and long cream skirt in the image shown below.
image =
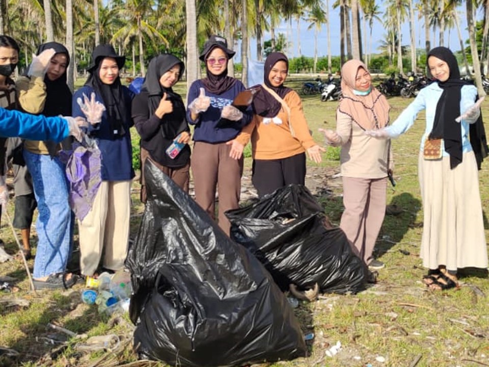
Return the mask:
[[481,142],[484,147],[486,142],[479,139],[485,139],[480,109],[471,109],[477,89],[460,80],[452,52],[433,48],[427,64],[436,81],[422,89],[391,126],[368,134],[396,138],[426,110],[418,161],[424,212],[420,256],[429,269],[423,282],[431,290],[445,290],[458,287],[457,269],[487,268],[477,171]]

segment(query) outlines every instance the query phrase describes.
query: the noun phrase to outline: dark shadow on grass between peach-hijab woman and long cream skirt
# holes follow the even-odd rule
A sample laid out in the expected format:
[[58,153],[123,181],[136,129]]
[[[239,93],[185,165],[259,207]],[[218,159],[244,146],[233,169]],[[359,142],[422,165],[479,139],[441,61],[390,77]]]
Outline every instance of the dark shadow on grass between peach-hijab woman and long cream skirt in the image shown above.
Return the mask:
[[392,198],[387,205],[386,217],[375,244],[377,257],[398,244],[409,229],[422,226],[422,222],[416,222],[420,210],[421,201],[410,193],[401,193]]

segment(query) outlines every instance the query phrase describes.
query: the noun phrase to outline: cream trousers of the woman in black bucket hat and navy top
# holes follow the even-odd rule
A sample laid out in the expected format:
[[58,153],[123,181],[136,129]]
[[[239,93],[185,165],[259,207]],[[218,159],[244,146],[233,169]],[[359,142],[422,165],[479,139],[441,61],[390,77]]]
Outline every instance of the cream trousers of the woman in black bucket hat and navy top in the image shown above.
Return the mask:
[[80,268],[83,275],[93,275],[102,250],[104,268],[122,269],[129,243],[131,181],[102,181],[92,209],[78,221]]

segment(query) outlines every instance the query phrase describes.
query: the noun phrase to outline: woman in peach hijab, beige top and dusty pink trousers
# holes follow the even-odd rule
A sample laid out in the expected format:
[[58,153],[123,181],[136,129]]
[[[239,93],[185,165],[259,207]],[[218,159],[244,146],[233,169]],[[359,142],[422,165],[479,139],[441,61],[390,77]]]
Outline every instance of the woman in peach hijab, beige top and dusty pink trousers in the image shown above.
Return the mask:
[[365,130],[389,124],[389,103],[371,83],[364,63],[349,60],[341,68],[343,98],[336,111],[336,131],[322,130],[328,143],[341,146],[343,204],[340,227],[370,269],[384,264],[372,257],[386,211],[390,140]]

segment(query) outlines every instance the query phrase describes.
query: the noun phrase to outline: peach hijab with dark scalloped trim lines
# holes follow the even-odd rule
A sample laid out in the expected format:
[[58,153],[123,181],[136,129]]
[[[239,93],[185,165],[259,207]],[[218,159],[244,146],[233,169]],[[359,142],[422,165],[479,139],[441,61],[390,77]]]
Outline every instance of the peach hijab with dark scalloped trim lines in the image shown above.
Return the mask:
[[367,95],[354,93],[359,68],[368,71],[360,60],[349,60],[341,68],[343,98],[338,111],[350,116],[364,130],[383,128],[389,124],[389,103],[386,97],[373,86]]

